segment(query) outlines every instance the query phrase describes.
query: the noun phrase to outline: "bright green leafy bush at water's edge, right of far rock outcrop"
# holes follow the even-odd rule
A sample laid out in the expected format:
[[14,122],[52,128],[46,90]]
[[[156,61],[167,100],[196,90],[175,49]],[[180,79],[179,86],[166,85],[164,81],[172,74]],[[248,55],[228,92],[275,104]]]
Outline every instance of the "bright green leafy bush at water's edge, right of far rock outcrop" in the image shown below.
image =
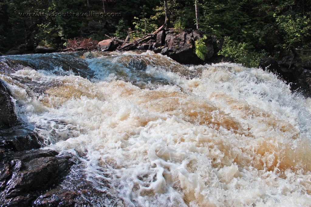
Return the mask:
[[224,44],[218,54],[234,58],[234,62],[242,63],[245,67],[257,67],[260,59],[268,55],[264,51],[256,52],[249,43],[239,43],[229,37],[225,37]]

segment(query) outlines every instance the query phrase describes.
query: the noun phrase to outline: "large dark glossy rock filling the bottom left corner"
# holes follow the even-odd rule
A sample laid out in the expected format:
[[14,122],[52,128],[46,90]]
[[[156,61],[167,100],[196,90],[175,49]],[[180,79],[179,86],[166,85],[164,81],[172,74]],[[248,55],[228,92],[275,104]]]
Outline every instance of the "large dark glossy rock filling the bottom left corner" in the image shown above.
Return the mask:
[[72,156],[53,150],[0,150],[0,206],[30,206],[41,191],[49,190],[69,172]]

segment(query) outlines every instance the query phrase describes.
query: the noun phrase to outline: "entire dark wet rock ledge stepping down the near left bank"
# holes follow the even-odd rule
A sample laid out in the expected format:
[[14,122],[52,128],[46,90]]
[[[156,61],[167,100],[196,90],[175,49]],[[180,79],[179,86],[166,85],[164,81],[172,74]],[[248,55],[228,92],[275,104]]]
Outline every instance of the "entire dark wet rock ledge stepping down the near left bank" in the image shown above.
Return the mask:
[[[34,201],[58,186],[77,161],[72,154],[39,149],[42,140],[18,120],[11,97],[9,88],[0,80],[0,206],[35,206]],[[70,195],[61,192],[59,196],[70,200]],[[58,201],[54,206],[74,203]]]

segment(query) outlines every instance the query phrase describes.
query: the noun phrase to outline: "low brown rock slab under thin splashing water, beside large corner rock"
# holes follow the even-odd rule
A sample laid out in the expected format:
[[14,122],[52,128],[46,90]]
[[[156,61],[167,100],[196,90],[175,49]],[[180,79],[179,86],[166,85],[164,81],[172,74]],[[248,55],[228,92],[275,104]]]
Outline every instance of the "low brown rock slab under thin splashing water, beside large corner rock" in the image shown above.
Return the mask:
[[108,181],[101,181],[103,190],[93,187],[83,173],[84,168],[73,165],[61,184],[38,196],[32,206],[123,206],[122,200],[109,192]]

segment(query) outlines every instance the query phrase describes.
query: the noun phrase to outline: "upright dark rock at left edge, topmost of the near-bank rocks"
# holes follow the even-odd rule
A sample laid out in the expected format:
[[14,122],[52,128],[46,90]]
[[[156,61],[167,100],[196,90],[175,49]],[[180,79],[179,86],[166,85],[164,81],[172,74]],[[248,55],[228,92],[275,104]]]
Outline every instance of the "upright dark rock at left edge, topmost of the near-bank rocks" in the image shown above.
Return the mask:
[[0,130],[19,124],[11,97],[11,91],[4,81],[0,80]]

